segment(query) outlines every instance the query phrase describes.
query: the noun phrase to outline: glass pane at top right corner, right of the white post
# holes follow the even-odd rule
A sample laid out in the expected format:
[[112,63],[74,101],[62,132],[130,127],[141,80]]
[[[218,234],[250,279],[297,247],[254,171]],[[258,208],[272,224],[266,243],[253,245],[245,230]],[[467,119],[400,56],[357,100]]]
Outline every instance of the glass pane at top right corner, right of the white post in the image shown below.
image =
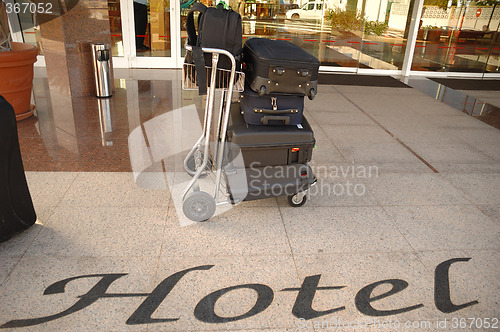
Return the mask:
[[412,70],[498,72],[500,7],[426,0]]

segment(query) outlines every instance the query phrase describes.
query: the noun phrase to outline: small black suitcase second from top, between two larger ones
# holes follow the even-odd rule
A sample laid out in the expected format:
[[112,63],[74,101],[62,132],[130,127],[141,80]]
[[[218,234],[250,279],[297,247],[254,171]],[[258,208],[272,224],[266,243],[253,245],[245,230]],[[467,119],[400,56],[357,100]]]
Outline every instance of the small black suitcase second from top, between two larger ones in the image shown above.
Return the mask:
[[298,125],[302,123],[304,96],[272,93],[259,97],[246,86],[240,96],[245,122],[253,125]]

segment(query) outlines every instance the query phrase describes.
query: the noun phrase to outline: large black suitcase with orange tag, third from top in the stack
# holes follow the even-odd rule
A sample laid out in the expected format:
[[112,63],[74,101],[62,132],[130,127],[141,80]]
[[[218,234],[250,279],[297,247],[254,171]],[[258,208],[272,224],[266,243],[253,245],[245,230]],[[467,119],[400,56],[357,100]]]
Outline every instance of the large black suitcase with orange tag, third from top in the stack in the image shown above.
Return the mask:
[[[231,105],[227,141],[241,149],[245,167],[307,163],[316,142],[305,117],[296,126],[251,125],[245,123],[239,103]],[[227,153],[231,158],[237,151]]]

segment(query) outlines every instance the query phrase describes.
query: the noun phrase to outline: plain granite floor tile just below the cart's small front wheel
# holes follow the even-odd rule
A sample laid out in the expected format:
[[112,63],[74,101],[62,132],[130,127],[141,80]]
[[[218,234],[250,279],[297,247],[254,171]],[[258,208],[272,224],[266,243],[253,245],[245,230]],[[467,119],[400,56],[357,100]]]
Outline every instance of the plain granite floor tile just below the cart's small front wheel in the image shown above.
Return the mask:
[[411,247],[380,207],[281,208],[294,255],[409,252]]

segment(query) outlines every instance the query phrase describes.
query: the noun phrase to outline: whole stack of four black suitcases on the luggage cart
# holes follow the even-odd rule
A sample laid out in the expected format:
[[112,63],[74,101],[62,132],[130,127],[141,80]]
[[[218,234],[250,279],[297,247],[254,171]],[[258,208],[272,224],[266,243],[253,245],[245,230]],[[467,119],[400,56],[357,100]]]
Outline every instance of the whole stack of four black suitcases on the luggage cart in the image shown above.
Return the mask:
[[[245,163],[245,200],[291,197],[314,183],[307,163],[315,139],[303,111],[304,97],[316,95],[319,64],[314,56],[287,41],[246,41],[245,90],[240,101],[231,105],[227,132],[227,141],[241,149]],[[273,191],[276,188],[279,193]],[[293,206],[303,203],[305,199]]]

